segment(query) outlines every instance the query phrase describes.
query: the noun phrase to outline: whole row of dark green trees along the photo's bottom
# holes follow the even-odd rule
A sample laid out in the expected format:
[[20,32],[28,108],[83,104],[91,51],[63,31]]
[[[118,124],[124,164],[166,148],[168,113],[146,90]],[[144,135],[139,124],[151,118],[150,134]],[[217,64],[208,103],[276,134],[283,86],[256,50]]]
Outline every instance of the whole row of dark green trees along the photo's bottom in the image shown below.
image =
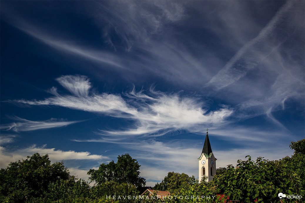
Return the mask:
[[[138,196],[146,180],[140,177],[140,165],[129,154],[117,157],[117,162],[101,164],[88,171],[89,182],[70,175],[63,162],[51,164],[48,155],[38,153],[0,170],[0,202],[228,202],[229,200],[279,202],[279,193],[300,195],[302,199],[282,198],[282,202],[305,201],[305,139],[291,142],[294,154],[280,160],[250,156],[238,160],[237,167],[217,169],[210,182],[185,173],[169,172],[157,183],[156,191],[169,191],[171,196],[200,197],[192,199],[116,199],[113,196]],[[222,194],[222,196],[217,196]],[[201,198],[201,197],[205,198]],[[210,197],[210,198],[207,198]],[[213,198],[212,198],[213,197]],[[293,196],[294,197],[294,196]]]

